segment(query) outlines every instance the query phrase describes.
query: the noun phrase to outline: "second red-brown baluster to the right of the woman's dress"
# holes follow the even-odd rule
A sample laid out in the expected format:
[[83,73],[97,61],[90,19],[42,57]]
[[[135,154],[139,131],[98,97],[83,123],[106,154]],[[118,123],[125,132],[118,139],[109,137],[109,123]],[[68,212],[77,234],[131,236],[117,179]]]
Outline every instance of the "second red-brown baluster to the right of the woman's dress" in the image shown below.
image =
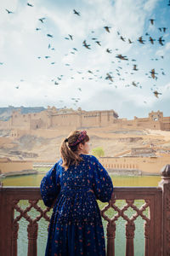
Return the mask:
[[133,238],[134,238],[135,225],[133,222],[127,222],[126,224],[126,256],[134,256]]

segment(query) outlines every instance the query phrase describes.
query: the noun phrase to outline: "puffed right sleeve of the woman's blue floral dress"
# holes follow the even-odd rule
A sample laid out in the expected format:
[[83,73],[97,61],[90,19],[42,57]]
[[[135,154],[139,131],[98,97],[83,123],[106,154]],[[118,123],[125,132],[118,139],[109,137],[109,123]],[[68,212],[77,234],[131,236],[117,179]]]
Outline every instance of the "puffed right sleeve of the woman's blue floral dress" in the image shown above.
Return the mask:
[[113,192],[113,183],[111,181],[111,177],[96,157],[94,157],[92,169],[93,190],[96,199],[99,199],[99,201],[102,202],[109,202]]

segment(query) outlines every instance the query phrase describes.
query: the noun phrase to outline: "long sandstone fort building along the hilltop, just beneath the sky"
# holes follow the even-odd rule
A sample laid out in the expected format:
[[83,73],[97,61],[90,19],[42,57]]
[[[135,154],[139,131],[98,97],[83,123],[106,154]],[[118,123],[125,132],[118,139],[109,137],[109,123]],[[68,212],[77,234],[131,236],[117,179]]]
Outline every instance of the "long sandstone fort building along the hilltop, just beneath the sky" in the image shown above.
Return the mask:
[[0,130],[10,130],[11,137],[20,137],[30,131],[45,129],[82,129],[88,127],[106,127],[113,129],[152,129],[170,131],[170,117],[164,117],[159,110],[149,113],[148,118],[119,119],[113,110],[85,111],[82,108],[73,110],[48,107],[39,113],[20,113],[13,111],[10,119],[0,121]]

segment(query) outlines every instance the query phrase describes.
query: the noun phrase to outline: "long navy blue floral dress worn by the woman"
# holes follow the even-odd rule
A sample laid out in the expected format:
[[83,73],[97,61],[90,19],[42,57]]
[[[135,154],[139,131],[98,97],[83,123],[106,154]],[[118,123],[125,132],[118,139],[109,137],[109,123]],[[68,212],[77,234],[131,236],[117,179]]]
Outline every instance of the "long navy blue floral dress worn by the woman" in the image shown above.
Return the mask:
[[94,155],[67,171],[60,159],[42,178],[42,201],[54,203],[45,256],[105,256],[105,236],[96,200],[109,202],[111,177]]

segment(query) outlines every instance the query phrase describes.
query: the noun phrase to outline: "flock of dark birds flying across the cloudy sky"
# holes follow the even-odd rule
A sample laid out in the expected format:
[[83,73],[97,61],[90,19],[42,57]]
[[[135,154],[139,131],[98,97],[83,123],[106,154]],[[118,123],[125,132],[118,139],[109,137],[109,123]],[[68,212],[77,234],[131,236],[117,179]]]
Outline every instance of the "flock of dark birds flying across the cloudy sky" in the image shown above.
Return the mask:
[[[31,7],[33,8],[33,5],[31,3],[27,3],[27,6],[28,7]],[[167,6],[170,6],[170,0],[169,2],[167,3]],[[13,15],[14,12],[9,10],[9,9],[5,9],[6,12],[8,13],[8,15]],[[81,17],[81,13],[79,11],[77,11],[76,9],[73,9],[73,15],[77,15],[77,17]],[[39,18],[38,19],[41,24],[43,25],[45,23],[45,20],[46,18],[45,17],[42,17],[42,18]],[[155,26],[155,21],[154,19],[150,19],[150,25],[151,26]],[[41,31],[41,27],[36,27],[36,31]],[[112,28],[111,26],[104,26],[103,29],[105,30],[106,33],[111,33],[112,32]],[[163,33],[163,34],[166,34],[167,32],[167,27],[158,27],[157,28],[158,31],[160,33]],[[93,37],[91,38],[92,42],[95,43],[96,45],[98,45],[99,47],[102,47],[102,42],[99,40],[99,38],[95,37],[94,36],[94,31],[91,31],[91,33],[93,34]],[[121,35],[120,32],[116,32],[117,33],[117,36],[119,37],[120,40],[122,40],[122,42],[125,42],[126,44],[134,44],[135,42],[131,39],[131,38],[125,38],[124,36]],[[48,38],[54,38],[54,35],[51,34],[51,33],[47,33],[47,37]],[[160,44],[161,46],[163,46],[165,44],[165,39],[163,38],[163,35],[161,34],[159,38],[153,38],[150,36],[150,34],[148,32],[145,33],[145,37],[144,36],[140,36],[137,41],[139,42],[139,44],[147,44],[147,41],[150,42],[150,44],[156,44],[156,42],[158,42],[158,44]],[[71,40],[74,42],[75,38],[74,38],[74,35],[71,35],[71,34],[68,34],[68,36],[66,36],[64,38],[65,40]],[[147,39],[147,40],[146,40]],[[92,49],[92,45],[91,43],[87,43],[87,39],[84,39],[83,42],[82,42],[82,46],[85,47],[86,49],[88,50],[91,50]],[[51,49],[51,50],[55,50],[54,47],[52,47],[51,43],[48,43],[48,49]],[[116,51],[118,51],[119,49],[115,49]],[[79,51],[79,49],[77,49],[76,47],[73,47],[70,54],[72,55],[75,55],[77,52]],[[108,54],[112,54],[112,51],[113,49],[105,49],[105,52],[108,53]],[[68,55],[68,54],[65,54],[65,55]],[[41,56],[38,56],[37,57],[38,59],[42,59]],[[45,59],[50,59],[51,56],[50,55],[45,55],[44,56]],[[139,68],[138,65],[136,64],[136,61],[135,59],[129,59],[129,57],[127,55],[122,55],[122,54],[116,54],[115,56],[115,61],[111,61],[112,64],[116,64],[116,61],[117,62],[120,62],[122,63],[122,61],[127,61],[127,66],[130,65],[129,61],[134,61],[135,64],[133,64],[133,69],[131,70],[131,72],[129,74],[133,75],[134,73],[136,73],[137,71],[139,71]],[[161,55],[161,59],[163,59],[164,56]],[[156,58],[156,59],[151,59],[151,61],[158,61],[159,59]],[[133,63],[134,63],[133,62]],[[0,65],[3,65],[4,63],[3,62],[0,62]],[[51,62],[51,65],[54,65],[55,64],[55,61],[52,61]],[[67,67],[70,67],[71,64],[70,63],[65,63],[65,66]],[[73,68],[70,68],[70,70],[72,71]],[[118,77],[119,77],[119,80],[125,80],[123,78],[123,75],[122,75],[122,67],[119,65],[118,67],[116,67],[116,70],[115,70],[115,73],[113,75],[113,72],[108,72],[106,73],[106,75],[101,75],[101,73],[99,74],[99,69],[95,70],[95,71],[92,71],[92,70],[88,70],[87,73],[91,75],[91,77],[88,77],[88,79],[94,79],[95,82],[98,81],[98,79],[106,79],[106,80],[109,80],[109,84],[113,84],[114,83],[114,75],[116,74]],[[83,75],[83,72],[82,71],[77,71],[78,74],[82,74],[82,79],[85,79],[86,78],[86,73]],[[126,74],[128,74],[128,72],[126,71],[125,72]],[[150,74],[149,74],[150,73]],[[149,78],[149,79],[158,79],[158,73],[156,73],[156,70],[155,68],[152,68],[150,70],[150,72],[148,73],[145,73],[145,75]],[[161,68],[161,75],[166,75],[163,68]],[[59,77],[57,77],[57,79],[51,79],[51,82],[54,82],[55,85],[59,85],[60,84],[60,81],[63,79],[64,75],[59,75]],[[74,79],[74,77],[72,76],[71,79]],[[23,79],[20,79],[20,82],[23,82],[24,80]],[[125,87],[128,87],[130,86],[131,84],[126,84]],[[132,85],[135,86],[135,87],[139,87],[140,89],[142,89],[142,85],[139,84],[139,82],[135,82],[133,81],[132,82]],[[156,86],[156,84],[154,84],[153,86]],[[117,86],[115,85],[115,87],[117,88]],[[20,86],[17,85],[15,86],[16,89],[19,89]],[[79,91],[82,91],[82,87],[78,87],[77,88]],[[158,98],[159,95],[161,95],[161,92],[158,91],[157,88],[150,88],[150,90],[152,90],[153,94]],[[77,104],[77,102],[79,102],[81,99],[80,97],[73,97],[71,98],[72,101],[75,102],[75,105]],[[63,101],[60,101],[60,102],[63,102]],[[144,103],[147,103],[144,101]]]

